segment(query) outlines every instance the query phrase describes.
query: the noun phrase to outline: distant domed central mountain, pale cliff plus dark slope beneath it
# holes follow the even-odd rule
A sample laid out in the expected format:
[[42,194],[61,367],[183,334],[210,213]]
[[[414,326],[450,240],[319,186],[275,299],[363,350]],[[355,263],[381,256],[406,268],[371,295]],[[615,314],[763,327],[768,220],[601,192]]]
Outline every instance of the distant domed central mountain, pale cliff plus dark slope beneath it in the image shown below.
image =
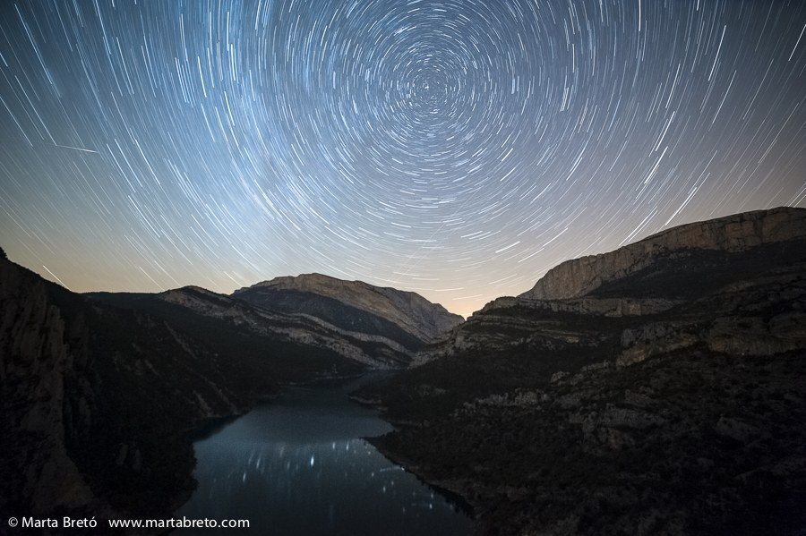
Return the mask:
[[305,314],[349,331],[387,336],[409,349],[433,342],[463,320],[419,294],[321,274],[276,277],[232,295],[270,311]]

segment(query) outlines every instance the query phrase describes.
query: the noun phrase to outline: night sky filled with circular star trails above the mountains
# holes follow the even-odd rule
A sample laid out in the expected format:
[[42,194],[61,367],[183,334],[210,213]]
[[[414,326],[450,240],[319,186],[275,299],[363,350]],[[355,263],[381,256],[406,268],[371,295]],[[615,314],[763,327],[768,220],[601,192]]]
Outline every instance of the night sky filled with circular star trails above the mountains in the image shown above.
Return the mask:
[[806,207],[806,2],[0,3],[0,245],[73,291],[321,272],[467,315]]

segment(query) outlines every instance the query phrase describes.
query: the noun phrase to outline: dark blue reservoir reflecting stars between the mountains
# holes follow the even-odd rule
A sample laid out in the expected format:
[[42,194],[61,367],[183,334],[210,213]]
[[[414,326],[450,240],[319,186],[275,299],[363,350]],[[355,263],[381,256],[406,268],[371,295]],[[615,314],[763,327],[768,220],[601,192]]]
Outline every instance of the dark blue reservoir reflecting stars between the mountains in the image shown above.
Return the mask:
[[248,519],[250,529],[174,533],[471,534],[471,520],[455,502],[363,439],[392,429],[347,398],[356,387],[285,387],[269,404],[196,441],[199,486],[175,517]]

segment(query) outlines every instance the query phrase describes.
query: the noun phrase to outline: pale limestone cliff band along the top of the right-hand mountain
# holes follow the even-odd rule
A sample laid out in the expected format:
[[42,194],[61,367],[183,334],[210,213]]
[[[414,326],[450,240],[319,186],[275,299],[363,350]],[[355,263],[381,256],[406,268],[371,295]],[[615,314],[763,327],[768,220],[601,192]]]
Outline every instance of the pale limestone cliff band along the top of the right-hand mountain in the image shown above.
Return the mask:
[[520,297],[578,298],[604,283],[646,268],[673,251],[747,251],[762,244],[806,237],[806,209],[773,208],[673,227],[616,251],[563,262]]

